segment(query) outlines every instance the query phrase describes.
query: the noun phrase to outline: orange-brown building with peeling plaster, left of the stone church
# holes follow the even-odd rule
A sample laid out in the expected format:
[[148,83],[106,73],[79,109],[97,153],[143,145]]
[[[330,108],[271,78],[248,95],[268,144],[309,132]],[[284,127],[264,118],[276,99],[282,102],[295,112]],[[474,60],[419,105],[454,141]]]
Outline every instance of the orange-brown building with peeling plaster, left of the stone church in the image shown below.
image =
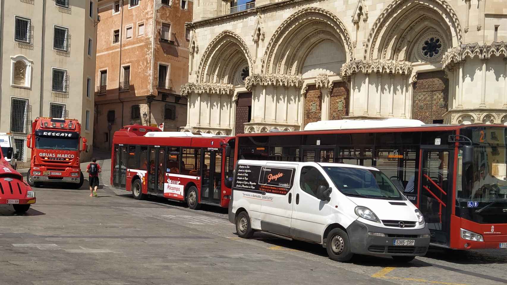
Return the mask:
[[130,124],[185,126],[192,2],[99,0],[95,80],[95,140],[111,147],[115,131]]

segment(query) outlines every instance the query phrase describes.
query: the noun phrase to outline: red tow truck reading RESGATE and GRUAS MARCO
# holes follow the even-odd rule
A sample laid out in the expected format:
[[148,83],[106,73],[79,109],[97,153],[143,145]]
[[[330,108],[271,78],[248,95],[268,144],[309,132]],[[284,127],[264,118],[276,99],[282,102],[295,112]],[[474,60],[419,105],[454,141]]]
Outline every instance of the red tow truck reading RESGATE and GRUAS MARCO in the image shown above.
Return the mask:
[[26,146],[31,148],[30,170],[26,174],[30,186],[37,187],[41,182],[69,183],[77,189],[83,185],[79,155],[86,149],[86,138],[81,138],[77,119],[36,118]]

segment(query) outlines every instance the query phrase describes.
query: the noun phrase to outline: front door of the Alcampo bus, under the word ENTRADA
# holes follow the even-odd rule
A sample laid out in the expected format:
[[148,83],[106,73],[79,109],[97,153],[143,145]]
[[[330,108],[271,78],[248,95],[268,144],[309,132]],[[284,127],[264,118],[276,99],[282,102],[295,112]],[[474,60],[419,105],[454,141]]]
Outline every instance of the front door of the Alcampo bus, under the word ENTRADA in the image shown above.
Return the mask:
[[201,201],[220,204],[222,186],[222,149],[204,150],[201,172]]

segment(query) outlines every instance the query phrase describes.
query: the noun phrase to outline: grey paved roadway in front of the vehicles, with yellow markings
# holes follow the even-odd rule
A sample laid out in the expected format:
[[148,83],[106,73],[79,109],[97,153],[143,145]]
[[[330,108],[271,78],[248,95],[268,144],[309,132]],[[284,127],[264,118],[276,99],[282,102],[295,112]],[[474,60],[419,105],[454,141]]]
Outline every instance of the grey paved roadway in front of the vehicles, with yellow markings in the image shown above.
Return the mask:
[[339,263],[305,242],[241,239],[227,209],[138,201],[107,186],[96,198],[86,186],[64,188],[36,188],[37,203],[24,215],[0,207],[0,284],[507,283],[507,250]]

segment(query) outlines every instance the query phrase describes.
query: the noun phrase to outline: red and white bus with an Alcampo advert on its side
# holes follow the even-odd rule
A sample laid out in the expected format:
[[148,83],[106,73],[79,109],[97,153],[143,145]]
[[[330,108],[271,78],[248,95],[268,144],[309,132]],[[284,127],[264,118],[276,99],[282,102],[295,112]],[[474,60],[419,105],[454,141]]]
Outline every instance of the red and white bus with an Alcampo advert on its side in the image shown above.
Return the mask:
[[235,137],[125,126],[113,137],[111,185],[146,195],[228,207],[233,178]]

